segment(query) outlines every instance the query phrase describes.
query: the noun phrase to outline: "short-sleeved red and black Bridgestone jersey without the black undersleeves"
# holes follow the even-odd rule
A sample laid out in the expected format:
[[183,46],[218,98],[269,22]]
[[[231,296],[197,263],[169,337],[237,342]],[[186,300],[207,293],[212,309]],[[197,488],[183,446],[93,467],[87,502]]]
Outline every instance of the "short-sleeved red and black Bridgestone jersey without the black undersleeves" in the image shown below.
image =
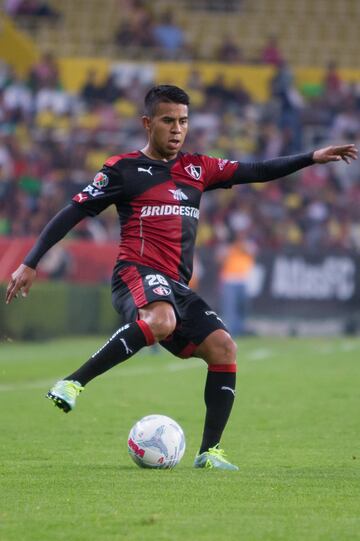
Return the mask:
[[238,162],[197,154],[180,153],[165,162],[136,151],[109,158],[73,201],[90,216],[115,204],[121,225],[118,259],[187,283],[201,195],[231,187],[238,167]]

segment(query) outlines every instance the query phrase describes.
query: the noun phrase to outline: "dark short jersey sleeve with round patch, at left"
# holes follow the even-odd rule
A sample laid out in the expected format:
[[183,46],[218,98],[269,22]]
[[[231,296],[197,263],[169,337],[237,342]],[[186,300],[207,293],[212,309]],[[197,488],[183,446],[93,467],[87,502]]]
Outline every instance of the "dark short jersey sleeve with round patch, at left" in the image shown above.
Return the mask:
[[123,177],[118,168],[104,165],[96,173],[92,184],[72,198],[89,216],[96,216],[108,206],[116,203],[123,193]]

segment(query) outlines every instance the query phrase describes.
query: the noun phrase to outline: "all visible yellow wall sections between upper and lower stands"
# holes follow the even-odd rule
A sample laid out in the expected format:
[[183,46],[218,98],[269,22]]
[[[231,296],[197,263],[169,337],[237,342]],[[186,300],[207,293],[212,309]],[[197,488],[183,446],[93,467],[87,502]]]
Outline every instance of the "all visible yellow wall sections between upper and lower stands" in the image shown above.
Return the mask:
[[[31,37],[21,32],[5,14],[0,14],[0,58],[12,65],[18,75],[25,76],[30,67],[39,58],[39,51]],[[120,63],[121,61],[119,61]],[[106,58],[60,58],[61,82],[70,92],[78,92],[84,84],[88,71],[97,73],[98,82],[102,82],[112,64],[116,62]],[[269,96],[269,81],[274,74],[271,66],[226,65],[206,62],[155,62],[155,82],[177,84],[186,88],[192,71],[200,73],[205,84],[219,76],[226,85],[232,86],[240,81],[252,97],[264,102]],[[299,88],[306,85],[321,85],[325,69],[298,67],[294,68],[296,84]],[[339,69],[340,77],[349,83],[360,81],[359,69]]]

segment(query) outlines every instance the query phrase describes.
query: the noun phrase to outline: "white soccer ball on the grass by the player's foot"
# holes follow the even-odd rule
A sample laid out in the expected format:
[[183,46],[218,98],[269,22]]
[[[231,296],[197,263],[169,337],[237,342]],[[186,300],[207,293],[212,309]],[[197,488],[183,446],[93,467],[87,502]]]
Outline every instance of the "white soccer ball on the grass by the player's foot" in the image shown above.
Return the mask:
[[166,415],[148,415],[130,430],[128,451],[141,468],[174,468],[185,452],[185,436]]

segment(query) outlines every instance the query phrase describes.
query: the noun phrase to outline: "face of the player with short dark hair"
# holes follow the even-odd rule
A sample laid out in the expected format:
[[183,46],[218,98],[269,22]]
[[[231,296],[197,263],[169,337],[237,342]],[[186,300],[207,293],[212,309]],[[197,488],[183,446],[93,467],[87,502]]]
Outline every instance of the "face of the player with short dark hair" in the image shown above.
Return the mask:
[[175,158],[188,130],[188,107],[181,103],[159,103],[152,117],[143,117],[148,132],[148,151],[159,159]]

